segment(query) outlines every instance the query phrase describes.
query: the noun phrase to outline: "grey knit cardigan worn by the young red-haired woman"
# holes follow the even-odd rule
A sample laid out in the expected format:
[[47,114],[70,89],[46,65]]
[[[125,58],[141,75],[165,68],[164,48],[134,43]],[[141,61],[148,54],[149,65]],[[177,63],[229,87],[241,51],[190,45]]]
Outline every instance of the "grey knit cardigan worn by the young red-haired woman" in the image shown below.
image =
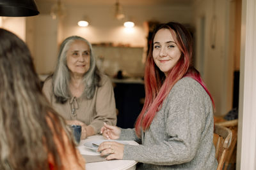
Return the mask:
[[121,129],[125,160],[137,169],[216,169],[212,102],[200,83],[185,77],[173,86],[150,125],[138,139],[134,129]]

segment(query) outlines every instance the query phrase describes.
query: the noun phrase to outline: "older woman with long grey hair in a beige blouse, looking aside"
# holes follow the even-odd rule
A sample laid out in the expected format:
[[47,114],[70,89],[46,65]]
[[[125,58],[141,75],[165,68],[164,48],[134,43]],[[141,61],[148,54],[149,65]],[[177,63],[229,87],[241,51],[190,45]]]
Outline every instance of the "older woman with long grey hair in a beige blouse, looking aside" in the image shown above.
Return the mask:
[[92,45],[70,36],[61,43],[56,70],[43,92],[68,124],[81,125],[81,139],[98,134],[103,123],[116,124],[111,80],[96,66]]

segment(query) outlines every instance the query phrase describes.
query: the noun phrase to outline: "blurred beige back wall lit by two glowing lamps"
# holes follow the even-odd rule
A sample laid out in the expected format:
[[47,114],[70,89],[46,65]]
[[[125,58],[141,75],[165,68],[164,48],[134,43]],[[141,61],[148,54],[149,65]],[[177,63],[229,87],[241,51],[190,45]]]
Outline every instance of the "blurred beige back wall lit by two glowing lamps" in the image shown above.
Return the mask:
[[[123,22],[114,18],[113,6],[68,6],[67,17],[64,22],[64,37],[79,34],[92,43],[113,42],[130,44],[131,46],[145,46],[147,34],[143,29],[143,22],[159,20],[191,24],[189,7],[171,6],[126,6],[128,16],[133,18],[135,27],[132,32],[125,32]],[[77,21],[86,15],[91,20],[89,27],[77,26]]]

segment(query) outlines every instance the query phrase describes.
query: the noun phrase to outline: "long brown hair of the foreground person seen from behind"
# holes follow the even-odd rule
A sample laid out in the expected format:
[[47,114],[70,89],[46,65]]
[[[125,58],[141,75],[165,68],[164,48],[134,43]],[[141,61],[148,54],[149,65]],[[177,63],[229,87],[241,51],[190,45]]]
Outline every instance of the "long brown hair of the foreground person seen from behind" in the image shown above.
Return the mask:
[[54,138],[63,141],[63,130],[76,154],[65,120],[42,94],[26,44],[4,29],[0,37],[0,169],[49,169],[49,154],[61,169]]

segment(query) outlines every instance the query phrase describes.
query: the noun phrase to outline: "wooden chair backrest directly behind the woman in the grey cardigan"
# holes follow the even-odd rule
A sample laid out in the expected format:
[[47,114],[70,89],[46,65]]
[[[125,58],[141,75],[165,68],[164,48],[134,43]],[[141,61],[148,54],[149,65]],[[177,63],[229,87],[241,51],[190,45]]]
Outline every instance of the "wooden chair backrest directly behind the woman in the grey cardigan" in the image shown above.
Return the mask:
[[214,125],[215,157],[218,160],[217,170],[223,169],[226,152],[232,141],[232,131],[227,127]]

